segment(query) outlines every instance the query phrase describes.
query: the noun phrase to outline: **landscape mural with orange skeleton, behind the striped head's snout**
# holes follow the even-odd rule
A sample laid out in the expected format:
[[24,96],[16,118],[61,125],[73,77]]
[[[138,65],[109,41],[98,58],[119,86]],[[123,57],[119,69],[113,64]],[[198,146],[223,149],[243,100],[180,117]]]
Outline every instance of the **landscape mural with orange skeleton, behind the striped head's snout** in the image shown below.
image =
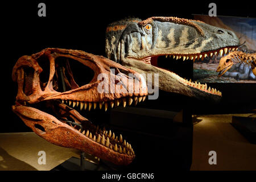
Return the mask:
[[[194,19],[232,30],[240,39],[237,49],[222,49],[193,63],[197,82],[256,83],[256,18],[194,15]],[[222,32],[219,32],[220,34]],[[222,54],[222,55],[221,55]]]

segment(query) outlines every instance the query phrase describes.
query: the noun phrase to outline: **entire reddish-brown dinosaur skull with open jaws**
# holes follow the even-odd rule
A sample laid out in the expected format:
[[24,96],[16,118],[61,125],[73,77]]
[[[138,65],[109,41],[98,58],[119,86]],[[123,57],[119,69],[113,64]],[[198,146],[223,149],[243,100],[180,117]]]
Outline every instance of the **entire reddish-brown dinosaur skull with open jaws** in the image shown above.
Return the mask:
[[[81,84],[71,63],[79,64],[73,68],[82,68],[80,80],[87,82]],[[113,82],[108,81],[114,74],[110,69],[118,73]],[[129,73],[137,81],[127,81]],[[146,82],[136,73],[102,56],[47,48],[20,57],[14,65],[12,77],[18,83],[18,94],[12,109],[32,131],[48,142],[126,165],[135,157],[131,144],[122,135],[117,137],[111,130],[93,125],[82,114],[89,114],[90,110],[104,114],[108,107],[144,100]],[[99,80],[100,74],[105,74],[105,77]],[[115,88],[115,92],[98,92],[98,85],[102,82]],[[138,92],[123,92],[129,86]]]

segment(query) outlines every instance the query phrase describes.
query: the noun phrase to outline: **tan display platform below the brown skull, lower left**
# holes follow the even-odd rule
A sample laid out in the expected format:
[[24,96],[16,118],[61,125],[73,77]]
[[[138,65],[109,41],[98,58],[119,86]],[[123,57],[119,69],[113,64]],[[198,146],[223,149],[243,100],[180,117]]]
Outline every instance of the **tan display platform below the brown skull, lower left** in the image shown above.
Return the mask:
[[[45,152],[46,164],[38,163],[39,158],[42,157],[39,151]],[[0,134],[0,170],[48,171],[72,156],[80,158],[80,151],[56,146],[35,133]],[[97,162],[90,155],[85,154],[85,158]]]

